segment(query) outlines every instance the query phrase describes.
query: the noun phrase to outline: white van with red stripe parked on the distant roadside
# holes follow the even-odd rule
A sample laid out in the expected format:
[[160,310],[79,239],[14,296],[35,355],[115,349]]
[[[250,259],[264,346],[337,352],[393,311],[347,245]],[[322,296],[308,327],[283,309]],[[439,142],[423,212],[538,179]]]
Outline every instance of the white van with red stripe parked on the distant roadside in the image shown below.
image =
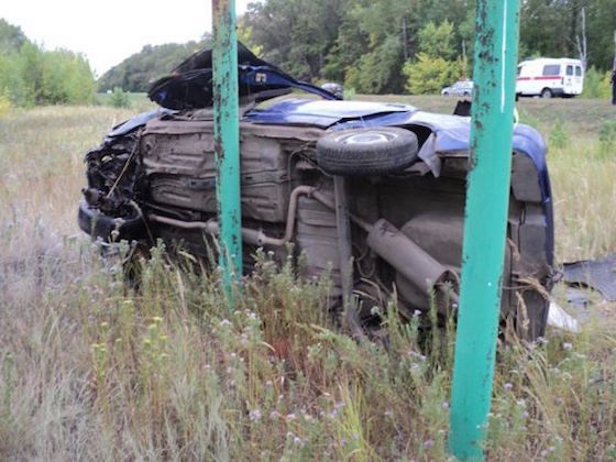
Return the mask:
[[536,58],[518,64],[516,97],[572,98],[584,88],[584,67],[580,59]]

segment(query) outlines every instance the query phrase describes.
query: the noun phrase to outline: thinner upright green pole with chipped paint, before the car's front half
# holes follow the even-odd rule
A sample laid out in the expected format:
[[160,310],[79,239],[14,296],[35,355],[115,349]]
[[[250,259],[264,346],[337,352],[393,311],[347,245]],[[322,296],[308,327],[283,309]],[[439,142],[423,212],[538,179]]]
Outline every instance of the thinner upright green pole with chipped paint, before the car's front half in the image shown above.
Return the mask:
[[217,200],[220,221],[220,265],[227,293],[242,271],[240,195],[240,112],[235,1],[213,0],[213,113],[218,166]]

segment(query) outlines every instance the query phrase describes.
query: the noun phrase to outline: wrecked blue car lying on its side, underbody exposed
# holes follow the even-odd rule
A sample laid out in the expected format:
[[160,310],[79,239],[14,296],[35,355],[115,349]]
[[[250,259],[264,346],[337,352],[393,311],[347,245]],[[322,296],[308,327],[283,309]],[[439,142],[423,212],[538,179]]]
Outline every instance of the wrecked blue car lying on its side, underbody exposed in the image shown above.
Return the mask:
[[[160,109],[87,153],[85,232],[207,257],[219,232],[211,76],[211,52],[191,56],[152,86]],[[244,271],[258,248],[280,262],[304,254],[304,277],[330,275],[333,307],[354,300],[353,329],[378,323],[372,308],[392,297],[402,316],[454,312],[470,119],[342,101],[241,44],[239,81]],[[312,95],[274,99],[295,89]],[[518,124],[513,146],[502,320],[532,339],[548,317],[552,202],[540,134]]]

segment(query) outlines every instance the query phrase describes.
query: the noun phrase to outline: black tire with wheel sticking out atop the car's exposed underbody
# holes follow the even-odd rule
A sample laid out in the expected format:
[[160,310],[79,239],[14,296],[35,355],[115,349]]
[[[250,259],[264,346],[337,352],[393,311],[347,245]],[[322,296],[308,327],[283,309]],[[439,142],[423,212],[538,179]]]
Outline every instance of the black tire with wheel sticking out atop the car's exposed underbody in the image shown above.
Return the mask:
[[317,163],[332,175],[382,175],[409,166],[419,147],[415,133],[396,127],[330,133],[317,143]]

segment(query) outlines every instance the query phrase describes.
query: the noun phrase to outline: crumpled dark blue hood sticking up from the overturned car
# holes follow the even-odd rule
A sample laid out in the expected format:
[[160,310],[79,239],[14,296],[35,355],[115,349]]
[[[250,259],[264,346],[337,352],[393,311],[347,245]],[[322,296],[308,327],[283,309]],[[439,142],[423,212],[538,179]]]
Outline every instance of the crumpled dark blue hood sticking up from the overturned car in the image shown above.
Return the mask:
[[[240,99],[258,102],[299,88],[324,99],[339,99],[311,84],[296,80],[276,66],[257,58],[238,42],[238,86]],[[168,76],[156,80],[148,98],[167,109],[185,110],[211,108],[212,51],[204,50],[177,66]]]

